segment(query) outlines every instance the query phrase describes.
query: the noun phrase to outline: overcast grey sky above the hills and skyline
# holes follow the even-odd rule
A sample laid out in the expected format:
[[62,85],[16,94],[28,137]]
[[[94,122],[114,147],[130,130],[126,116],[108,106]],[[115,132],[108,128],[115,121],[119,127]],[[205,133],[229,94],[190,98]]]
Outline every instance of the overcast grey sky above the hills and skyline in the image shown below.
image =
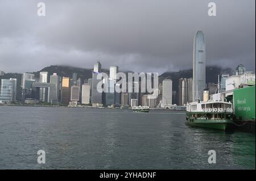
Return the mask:
[[[37,15],[37,3],[46,16]],[[215,2],[217,16],[208,16]],[[207,65],[255,71],[255,0],[0,0],[0,70],[49,65],[158,72],[192,68],[203,30]],[[241,61],[240,61],[241,60]]]

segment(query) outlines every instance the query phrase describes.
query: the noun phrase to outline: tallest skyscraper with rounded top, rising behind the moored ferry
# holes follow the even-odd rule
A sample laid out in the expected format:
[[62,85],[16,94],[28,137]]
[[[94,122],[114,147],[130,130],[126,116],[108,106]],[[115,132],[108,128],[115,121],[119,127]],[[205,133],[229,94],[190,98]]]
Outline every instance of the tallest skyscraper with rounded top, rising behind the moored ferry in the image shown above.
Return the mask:
[[[193,101],[203,100],[205,89],[205,39],[203,31],[197,31],[193,44]],[[197,94],[198,92],[198,94]],[[198,95],[198,96],[196,96]]]

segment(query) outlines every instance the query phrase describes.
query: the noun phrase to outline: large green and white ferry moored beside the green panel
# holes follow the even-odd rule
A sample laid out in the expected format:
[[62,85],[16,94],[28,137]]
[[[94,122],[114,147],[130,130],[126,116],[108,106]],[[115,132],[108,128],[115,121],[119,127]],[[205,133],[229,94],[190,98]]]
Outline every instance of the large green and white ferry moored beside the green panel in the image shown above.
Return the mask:
[[226,131],[234,127],[232,103],[208,100],[187,104],[186,124]]

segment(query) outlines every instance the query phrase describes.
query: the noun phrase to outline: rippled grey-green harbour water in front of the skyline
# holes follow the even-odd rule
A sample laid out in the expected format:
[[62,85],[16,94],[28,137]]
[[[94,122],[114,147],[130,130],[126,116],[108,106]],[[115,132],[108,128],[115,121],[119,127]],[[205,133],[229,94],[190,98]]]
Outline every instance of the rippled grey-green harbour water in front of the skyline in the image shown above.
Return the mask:
[[0,169],[255,169],[255,134],[191,128],[183,111],[0,106]]

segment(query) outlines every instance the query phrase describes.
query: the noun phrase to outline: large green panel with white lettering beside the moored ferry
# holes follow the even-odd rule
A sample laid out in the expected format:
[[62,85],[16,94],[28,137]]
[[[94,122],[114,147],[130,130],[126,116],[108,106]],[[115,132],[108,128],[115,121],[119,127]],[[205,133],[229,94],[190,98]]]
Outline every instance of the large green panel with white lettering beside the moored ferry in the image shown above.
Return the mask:
[[255,86],[234,90],[234,114],[237,119],[255,120]]

